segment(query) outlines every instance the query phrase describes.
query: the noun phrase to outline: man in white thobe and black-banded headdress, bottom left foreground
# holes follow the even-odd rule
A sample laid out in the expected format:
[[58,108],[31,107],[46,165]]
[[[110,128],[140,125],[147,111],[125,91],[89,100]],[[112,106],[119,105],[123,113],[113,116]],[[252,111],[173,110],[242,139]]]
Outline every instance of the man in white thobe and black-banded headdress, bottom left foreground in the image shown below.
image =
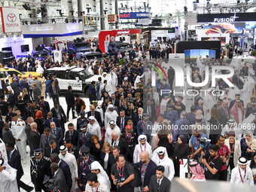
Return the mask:
[[71,192],[78,191],[78,164],[74,154],[67,153],[68,148],[65,145],[59,148],[59,159],[64,160],[69,165],[69,169],[72,175],[72,188]]

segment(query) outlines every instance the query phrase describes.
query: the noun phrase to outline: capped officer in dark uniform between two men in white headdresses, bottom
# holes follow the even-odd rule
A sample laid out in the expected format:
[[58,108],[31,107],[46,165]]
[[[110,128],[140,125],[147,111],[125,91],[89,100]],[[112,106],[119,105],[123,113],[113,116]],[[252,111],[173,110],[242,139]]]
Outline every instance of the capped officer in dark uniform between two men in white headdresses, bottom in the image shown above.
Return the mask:
[[79,188],[84,191],[87,184],[86,175],[90,173],[90,164],[95,161],[92,157],[89,157],[90,148],[81,148],[81,157],[79,158]]

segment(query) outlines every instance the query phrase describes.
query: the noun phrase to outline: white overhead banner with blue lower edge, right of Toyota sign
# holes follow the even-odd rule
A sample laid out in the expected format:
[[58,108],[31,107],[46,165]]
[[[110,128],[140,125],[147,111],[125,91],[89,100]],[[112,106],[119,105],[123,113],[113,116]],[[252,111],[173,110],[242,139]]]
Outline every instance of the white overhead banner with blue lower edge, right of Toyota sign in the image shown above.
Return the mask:
[[43,23],[21,26],[24,38],[82,35],[83,23]]

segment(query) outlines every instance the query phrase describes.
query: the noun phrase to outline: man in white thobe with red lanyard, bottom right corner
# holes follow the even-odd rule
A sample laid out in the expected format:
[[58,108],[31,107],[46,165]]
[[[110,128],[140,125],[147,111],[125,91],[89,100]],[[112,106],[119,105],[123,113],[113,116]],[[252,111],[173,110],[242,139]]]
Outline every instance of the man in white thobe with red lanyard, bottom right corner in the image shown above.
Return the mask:
[[251,168],[247,165],[245,157],[239,157],[237,166],[231,171],[231,184],[250,184],[254,185]]

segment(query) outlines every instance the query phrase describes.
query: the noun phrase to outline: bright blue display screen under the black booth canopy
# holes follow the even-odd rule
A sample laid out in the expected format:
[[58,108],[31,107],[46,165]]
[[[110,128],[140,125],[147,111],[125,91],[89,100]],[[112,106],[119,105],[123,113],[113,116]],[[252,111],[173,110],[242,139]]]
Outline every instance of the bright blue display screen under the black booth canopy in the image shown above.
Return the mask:
[[206,58],[206,55],[209,58],[216,58],[216,50],[185,50],[185,59],[197,59],[198,56]]

